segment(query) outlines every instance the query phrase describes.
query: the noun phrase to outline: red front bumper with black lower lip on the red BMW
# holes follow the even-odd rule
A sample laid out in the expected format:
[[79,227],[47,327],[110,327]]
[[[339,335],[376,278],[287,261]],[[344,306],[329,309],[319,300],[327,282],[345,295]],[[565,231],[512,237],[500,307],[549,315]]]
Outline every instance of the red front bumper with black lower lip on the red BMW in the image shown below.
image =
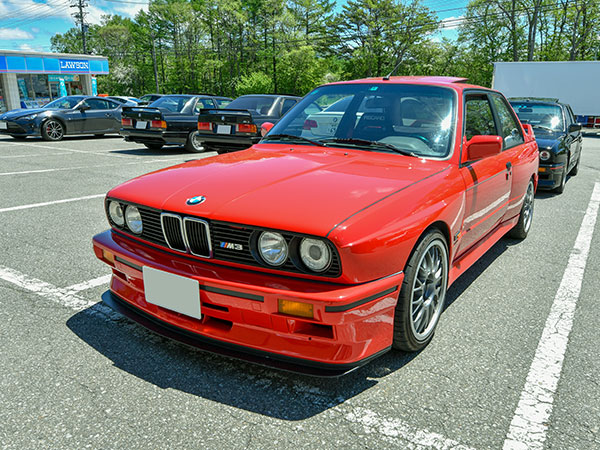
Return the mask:
[[[96,256],[113,269],[109,306],[186,344],[322,376],[347,373],[391,348],[402,273],[340,285],[212,264],[110,230],[93,241]],[[143,266],[198,280],[202,318],[146,302]],[[279,299],[311,303],[314,319],[279,313]]]

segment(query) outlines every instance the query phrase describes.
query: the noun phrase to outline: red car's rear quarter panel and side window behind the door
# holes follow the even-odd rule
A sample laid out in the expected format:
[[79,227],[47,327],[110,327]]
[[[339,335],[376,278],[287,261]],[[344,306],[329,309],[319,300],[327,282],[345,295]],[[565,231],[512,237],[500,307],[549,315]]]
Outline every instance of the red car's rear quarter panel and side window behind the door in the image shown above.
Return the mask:
[[506,217],[517,215],[521,210],[523,196],[531,177],[529,161],[535,144],[525,139],[523,127],[518,117],[499,93],[491,93],[492,106],[496,115],[497,127],[503,139],[501,159],[511,174],[511,196]]

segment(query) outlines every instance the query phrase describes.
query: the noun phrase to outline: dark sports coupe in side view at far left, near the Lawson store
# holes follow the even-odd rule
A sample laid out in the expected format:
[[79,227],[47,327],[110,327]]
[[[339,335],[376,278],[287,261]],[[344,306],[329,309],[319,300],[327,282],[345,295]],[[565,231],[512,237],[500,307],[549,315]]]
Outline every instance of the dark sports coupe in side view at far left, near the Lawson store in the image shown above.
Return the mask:
[[42,136],[60,141],[65,135],[118,133],[121,104],[102,97],[71,95],[42,108],[15,109],[0,115],[0,134],[15,139]]

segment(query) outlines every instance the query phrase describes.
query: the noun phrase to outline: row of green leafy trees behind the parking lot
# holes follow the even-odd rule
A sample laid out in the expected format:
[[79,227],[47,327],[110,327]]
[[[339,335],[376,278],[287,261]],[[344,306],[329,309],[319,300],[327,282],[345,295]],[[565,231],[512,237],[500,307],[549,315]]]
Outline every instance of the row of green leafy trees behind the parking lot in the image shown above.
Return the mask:
[[[448,75],[490,86],[496,61],[597,59],[596,0],[471,0],[442,21],[419,0],[151,0],[134,19],[107,15],[87,47],[107,56],[112,95],[304,95],[331,81]],[[449,10],[446,10],[448,12]],[[463,13],[462,15],[460,13]],[[443,27],[458,38],[441,37]],[[52,49],[82,53],[78,28]]]

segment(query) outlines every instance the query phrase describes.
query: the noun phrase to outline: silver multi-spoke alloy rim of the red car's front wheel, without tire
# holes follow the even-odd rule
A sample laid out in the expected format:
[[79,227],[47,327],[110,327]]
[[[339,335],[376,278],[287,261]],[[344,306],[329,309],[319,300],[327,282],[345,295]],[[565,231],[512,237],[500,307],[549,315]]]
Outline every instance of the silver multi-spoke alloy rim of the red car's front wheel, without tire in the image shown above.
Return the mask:
[[435,329],[444,307],[448,283],[448,252],[444,243],[432,241],[417,265],[410,301],[410,326],[415,338],[426,340]]

